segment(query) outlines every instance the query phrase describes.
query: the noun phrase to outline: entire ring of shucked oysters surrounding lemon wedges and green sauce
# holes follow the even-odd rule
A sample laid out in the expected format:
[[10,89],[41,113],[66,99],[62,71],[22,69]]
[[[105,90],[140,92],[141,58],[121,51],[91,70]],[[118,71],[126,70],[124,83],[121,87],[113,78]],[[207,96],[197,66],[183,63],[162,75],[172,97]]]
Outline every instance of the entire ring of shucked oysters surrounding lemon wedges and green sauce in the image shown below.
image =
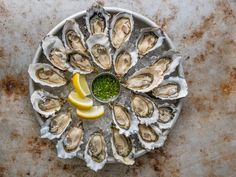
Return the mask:
[[[29,66],[30,77],[41,86],[31,102],[45,120],[41,137],[58,140],[58,157],[82,153],[87,166],[97,171],[110,156],[132,165],[140,149],[164,145],[178,118],[177,104],[188,93],[184,77],[177,72],[183,57],[166,46],[162,29],[140,30],[132,14],[109,14],[100,5],[88,9],[84,19],[67,20],[61,36],[42,40],[48,63]],[[109,135],[102,129],[86,135],[83,120],[74,119],[73,109],[65,106],[60,93],[67,88],[68,73],[77,72],[88,77],[110,72],[119,79],[126,97],[109,104]],[[51,93],[57,89],[58,94]]]

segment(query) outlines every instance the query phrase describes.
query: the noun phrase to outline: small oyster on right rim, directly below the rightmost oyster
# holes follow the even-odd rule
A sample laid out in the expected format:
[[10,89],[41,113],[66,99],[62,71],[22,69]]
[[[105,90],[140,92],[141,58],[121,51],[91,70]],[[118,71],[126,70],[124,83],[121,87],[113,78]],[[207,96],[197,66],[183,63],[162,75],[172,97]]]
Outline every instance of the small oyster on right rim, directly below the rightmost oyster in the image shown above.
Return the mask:
[[164,103],[158,105],[159,110],[159,119],[157,120],[157,124],[160,129],[169,129],[172,128],[175,124],[178,114],[176,106],[169,103]]

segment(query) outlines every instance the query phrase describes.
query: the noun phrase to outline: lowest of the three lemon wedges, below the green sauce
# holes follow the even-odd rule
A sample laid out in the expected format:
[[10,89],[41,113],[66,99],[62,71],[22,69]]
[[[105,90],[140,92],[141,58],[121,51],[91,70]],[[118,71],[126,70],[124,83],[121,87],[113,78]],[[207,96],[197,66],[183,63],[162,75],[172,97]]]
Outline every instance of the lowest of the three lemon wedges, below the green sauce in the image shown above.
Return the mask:
[[96,118],[101,117],[104,114],[104,107],[103,106],[93,106],[89,110],[77,109],[76,113],[80,118],[96,119]]

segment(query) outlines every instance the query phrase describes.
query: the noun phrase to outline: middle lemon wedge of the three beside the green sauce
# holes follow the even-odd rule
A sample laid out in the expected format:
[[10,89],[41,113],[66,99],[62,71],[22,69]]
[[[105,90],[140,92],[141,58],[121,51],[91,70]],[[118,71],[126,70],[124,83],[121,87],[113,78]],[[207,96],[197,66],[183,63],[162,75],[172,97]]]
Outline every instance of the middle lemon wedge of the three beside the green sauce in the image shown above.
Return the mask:
[[92,99],[88,97],[81,98],[75,91],[70,92],[68,101],[79,109],[90,109],[93,107]]

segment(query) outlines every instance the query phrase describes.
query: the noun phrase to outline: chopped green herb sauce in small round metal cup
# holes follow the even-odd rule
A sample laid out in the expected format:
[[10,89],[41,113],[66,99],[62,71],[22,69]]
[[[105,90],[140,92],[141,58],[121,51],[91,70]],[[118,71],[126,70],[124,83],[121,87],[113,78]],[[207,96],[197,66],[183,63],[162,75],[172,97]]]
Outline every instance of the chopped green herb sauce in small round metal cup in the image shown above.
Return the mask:
[[92,84],[92,92],[100,100],[107,101],[119,94],[119,81],[112,75],[98,76]]

